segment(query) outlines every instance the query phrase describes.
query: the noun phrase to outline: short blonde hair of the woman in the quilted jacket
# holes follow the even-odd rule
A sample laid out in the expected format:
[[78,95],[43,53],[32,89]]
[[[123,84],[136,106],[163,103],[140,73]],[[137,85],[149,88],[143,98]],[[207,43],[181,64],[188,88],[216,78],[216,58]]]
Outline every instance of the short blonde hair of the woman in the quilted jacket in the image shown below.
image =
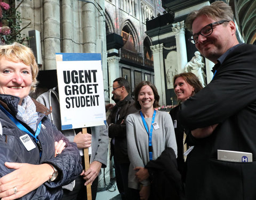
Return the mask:
[[3,57],[12,62],[23,62],[31,67],[31,91],[35,91],[38,83],[36,77],[39,69],[33,51],[25,45],[14,42],[10,45],[0,45],[0,58]]

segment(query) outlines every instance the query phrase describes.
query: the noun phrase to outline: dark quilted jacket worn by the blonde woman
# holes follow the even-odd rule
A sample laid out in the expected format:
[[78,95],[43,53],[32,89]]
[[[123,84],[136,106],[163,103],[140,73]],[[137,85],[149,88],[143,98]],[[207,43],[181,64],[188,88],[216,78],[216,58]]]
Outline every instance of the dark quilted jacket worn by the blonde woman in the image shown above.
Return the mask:
[[[9,111],[13,116],[18,111],[18,97],[12,95],[0,94],[1,105]],[[42,121],[41,131],[38,135],[38,140],[42,145],[42,157],[39,157],[39,149],[36,148],[27,151],[23,143],[19,139],[26,133],[21,131],[12,120],[6,116],[0,109],[0,178],[11,173],[12,169],[7,169],[4,166],[5,162],[18,162],[29,164],[49,163],[54,165],[59,172],[58,181],[45,182],[36,190],[31,191],[20,199],[60,199],[62,196],[62,185],[73,181],[81,172],[81,156],[76,147],[76,144],[69,142],[64,135],[51,124],[49,118],[45,115],[50,113],[50,110],[35,101],[36,110],[39,112],[37,125]],[[30,132],[34,133],[26,124],[23,124]],[[33,140],[32,137],[30,137]],[[63,140],[66,142],[66,148],[60,155],[54,158],[54,141]],[[34,140],[33,140],[34,141]],[[38,172],[40,173],[40,172]]]

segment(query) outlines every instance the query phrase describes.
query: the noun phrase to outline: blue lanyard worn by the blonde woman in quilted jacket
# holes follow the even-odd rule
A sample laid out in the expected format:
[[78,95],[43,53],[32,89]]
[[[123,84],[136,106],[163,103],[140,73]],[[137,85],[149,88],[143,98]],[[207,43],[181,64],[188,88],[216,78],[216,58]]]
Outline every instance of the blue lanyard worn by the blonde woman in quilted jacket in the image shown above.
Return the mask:
[[41,157],[41,152],[42,152],[42,147],[41,147],[41,144],[39,142],[39,140],[36,138],[39,133],[40,133],[40,130],[41,130],[41,124],[42,122],[40,122],[37,126],[37,129],[36,129],[36,133],[35,135],[30,133],[29,130],[26,129],[25,126],[23,126],[17,119],[15,119],[7,110],[4,109],[4,107],[0,104],[0,109],[10,118],[12,119],[12,121],[15,123],[15,125],[21,130],[21,131],[24,131],[26,133],[28,133],[31,137],[33,137],[35,140],[36,140],[36,143],[37,143],[37,146],[39,145],[39,150],[40,150],[40,157]]

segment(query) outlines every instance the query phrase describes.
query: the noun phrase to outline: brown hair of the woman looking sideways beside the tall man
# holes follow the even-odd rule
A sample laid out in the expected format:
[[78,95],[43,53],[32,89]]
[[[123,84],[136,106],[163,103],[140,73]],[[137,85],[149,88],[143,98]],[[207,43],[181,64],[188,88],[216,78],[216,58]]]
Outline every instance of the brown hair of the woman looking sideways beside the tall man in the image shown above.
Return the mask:
[[187,73],[181,73],[181,74],[177,74],[173,77],[173,86],[174,83],[176,81],[177,78],[179,77],[183,77],[185,79],[185,81],[194,87],[194,93],[199,92],[200,90],[203,89],[201,82],[199,81],[199,79],[197,78],[197,76],[191,72],[187,72]]

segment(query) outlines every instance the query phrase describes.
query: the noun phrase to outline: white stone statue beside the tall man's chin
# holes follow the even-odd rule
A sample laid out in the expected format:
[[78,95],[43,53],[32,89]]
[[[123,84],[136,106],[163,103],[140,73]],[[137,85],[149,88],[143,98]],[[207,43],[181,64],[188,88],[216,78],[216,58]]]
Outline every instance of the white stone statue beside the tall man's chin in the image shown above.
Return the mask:
[[195,74],[199,81],[202,83],[203,87],[206,85],[204,66],[204,58],[200,55],[199,51],[195,52],[195,56],[185,66],[185,71]]

